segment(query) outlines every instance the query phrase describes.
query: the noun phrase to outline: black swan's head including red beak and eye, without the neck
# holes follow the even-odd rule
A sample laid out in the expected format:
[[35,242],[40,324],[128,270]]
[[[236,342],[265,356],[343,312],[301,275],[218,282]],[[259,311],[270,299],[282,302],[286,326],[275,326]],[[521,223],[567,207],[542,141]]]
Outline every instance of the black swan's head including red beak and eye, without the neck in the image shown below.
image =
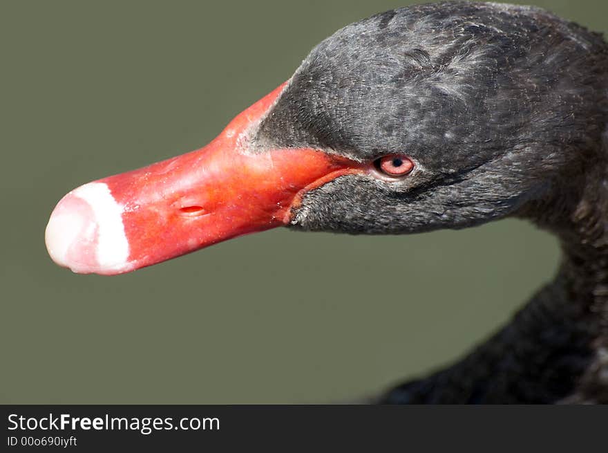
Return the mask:
[[605,41],[543,10],[388,11],[322,41],[206,147],[70,192],[47,248],[112,275],[281,225],[478,225],[578,187],[604,155],[606,93]]

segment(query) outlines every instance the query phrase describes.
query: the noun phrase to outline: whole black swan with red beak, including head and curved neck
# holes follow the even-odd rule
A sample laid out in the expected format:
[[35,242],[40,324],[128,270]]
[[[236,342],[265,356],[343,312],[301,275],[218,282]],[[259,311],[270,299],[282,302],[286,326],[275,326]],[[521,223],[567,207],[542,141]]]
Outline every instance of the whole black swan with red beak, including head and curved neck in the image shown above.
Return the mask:
[[539,8],[444,2],[325,39],[209,145],[58,203],[50,256],[112,275],[287,225],[413,233],[518,216],[563,261],[501,331],[378,403],[608,403],[608,45]]

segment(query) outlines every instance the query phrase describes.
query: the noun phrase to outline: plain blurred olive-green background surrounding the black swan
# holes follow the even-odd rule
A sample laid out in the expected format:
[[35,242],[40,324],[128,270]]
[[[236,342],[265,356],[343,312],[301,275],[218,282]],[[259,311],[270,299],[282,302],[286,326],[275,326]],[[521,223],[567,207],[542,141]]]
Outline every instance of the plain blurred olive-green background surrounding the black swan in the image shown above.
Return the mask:
[[[608,30],[608,3],[533,3]],[[408,4],[3,2],[0,403],[348,400],[459,358],[551,279],[557,243],[515,220],[272,230],[118,277],[48,258],[70,189],[205,145],[321,39]]]

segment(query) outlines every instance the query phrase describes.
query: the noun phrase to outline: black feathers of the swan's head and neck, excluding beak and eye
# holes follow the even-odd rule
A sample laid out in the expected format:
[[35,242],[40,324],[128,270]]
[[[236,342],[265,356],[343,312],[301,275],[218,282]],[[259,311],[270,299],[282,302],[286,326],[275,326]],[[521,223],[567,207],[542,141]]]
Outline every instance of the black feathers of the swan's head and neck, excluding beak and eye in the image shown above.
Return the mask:
[[351,174],[312,190],[294,228],[408,233],[521,216],[560,237],[558,277],[511,324],[383,402],[608,403],[607,125],[599,34],[540,8],[448,1],[322,41],[249,142],[414,161],[399,181]]

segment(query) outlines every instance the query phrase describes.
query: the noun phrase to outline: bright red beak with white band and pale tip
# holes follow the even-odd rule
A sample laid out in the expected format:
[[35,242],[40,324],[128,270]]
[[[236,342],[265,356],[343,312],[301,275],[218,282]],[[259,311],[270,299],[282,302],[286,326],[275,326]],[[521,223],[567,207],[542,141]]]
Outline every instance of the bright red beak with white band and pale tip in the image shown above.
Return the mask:
[[129,272],[285,225],[307,190],[365,172],[364,165],[314,149],[247,149],[243,133],[284,85],[206,147],[68,193],[46,227],[50,257],[79,273]]

